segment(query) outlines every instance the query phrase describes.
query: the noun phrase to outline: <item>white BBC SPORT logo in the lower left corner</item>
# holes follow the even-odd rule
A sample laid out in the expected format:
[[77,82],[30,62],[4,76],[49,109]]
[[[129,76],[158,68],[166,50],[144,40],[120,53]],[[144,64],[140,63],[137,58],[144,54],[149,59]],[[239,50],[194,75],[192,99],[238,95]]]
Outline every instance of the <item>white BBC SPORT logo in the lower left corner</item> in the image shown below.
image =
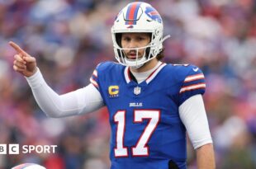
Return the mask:
[[0,144],[0,154],[55,153],[57,145]]

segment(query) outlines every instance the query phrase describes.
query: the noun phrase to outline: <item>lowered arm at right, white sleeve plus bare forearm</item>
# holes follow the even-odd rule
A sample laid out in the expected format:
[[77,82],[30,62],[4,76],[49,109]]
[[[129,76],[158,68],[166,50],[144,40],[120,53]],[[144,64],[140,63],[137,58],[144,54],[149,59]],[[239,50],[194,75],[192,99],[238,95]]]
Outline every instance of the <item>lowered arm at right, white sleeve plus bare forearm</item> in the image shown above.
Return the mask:
[[202,96],[191,96],[179,106],[179,115],[197,152],[198,169],[214,169],[216,162]]

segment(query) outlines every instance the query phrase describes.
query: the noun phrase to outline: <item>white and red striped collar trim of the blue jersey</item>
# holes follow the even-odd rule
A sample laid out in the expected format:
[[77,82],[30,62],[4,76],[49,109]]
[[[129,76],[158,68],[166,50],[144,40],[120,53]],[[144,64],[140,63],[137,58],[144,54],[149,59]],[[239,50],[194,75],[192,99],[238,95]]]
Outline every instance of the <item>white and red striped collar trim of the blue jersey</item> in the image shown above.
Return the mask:
[[[162,68],[164,68],[164,66],[166,66],[166,63],[161,63],[159,67],[154,70],[153,73],[149,74],[149,77],[145,79],[145,82],[149,84],[149,82],[151,82],[154,79],[154,77],[156,77],[156,75],[160,72],[160,70],[162,70]],[[125,73],[126,82],[127,83],[131,82],[132,79],[130,74],[130,67],[126,67],[124,73]]]

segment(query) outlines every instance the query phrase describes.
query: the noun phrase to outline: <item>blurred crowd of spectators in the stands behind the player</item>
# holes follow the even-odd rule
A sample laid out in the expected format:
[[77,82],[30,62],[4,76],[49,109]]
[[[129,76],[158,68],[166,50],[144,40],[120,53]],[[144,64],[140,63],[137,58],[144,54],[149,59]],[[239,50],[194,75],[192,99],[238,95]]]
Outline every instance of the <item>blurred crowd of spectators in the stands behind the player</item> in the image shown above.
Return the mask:
[[[107,109],[47,118],[26,79],[12,70],[9,40],[36,57],[59,94],[89,83],[97,63],[114,60],[111,26],[131,1],[0,0],[0,143],[58,145],[57,153],[0,155],[0,169],[35,162],[47,169],[107,169]],[[164,20],[167,63],[196,64],[217,168],[256,168],[256,2],[254,0],[147,1]],[[187,142],[188,168],[196,168]]]

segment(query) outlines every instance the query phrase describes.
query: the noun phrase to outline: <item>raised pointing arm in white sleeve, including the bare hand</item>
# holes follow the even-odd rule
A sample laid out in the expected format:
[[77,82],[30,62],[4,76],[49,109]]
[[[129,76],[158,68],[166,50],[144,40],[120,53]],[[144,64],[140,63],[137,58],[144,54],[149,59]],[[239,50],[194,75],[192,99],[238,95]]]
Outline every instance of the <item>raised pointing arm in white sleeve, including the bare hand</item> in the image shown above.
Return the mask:
[[64,117],[92,112],[103,106],[102,96],[92,84],[74,92],[58,95],[45,82],[39,68],[36,68],[36,59],[26,54],[18,45],[10,42],[17,50],[13,68],[26,77],[36,102],[50,117]]

